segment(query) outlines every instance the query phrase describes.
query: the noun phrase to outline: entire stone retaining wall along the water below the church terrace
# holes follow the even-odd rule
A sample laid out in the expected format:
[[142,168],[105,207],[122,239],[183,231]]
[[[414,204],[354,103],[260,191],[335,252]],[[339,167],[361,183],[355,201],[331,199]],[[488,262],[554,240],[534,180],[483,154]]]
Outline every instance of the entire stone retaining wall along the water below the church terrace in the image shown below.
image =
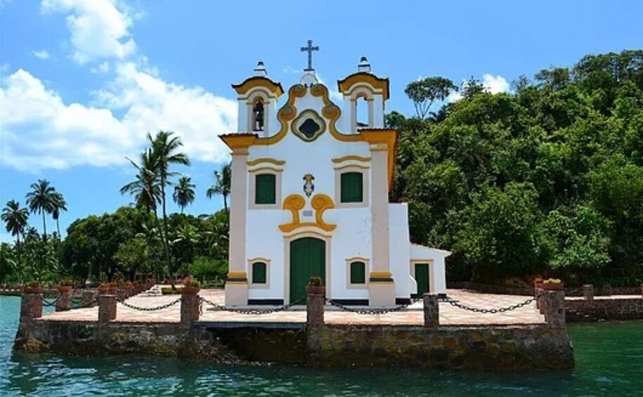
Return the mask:
[[426,327],[320,325],[305,329],[223,328],[35,320],[15,346],[82,356],[152,354],[220,363],[266,362],[335,367],[551,370],[573,367],[566,331],[546,325]]

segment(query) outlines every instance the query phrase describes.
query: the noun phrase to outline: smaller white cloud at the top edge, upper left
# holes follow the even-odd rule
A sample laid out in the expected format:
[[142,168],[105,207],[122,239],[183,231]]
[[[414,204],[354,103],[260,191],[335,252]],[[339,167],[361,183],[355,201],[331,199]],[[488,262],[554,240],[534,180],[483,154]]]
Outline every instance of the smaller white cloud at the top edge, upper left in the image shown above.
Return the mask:
[[45,13],[67,14],[74,47],[72,58],[87,63],[100,58],[124,59],[136,51],[129,27],[133,17],[119,0],[42,0]]

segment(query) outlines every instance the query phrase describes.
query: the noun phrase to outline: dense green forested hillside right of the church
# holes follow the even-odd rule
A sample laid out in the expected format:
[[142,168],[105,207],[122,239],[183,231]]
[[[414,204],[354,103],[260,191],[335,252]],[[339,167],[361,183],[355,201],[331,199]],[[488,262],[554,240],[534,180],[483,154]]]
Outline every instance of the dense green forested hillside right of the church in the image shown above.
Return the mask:
[[472,79],[425,118],[422,101],[450,89],[414,82],[417,117],[387,115],[401,131],[391,199],[409,203],[415,242],[454,252],[448,277],[643,282],[643,51],[586,56],[512,93]]

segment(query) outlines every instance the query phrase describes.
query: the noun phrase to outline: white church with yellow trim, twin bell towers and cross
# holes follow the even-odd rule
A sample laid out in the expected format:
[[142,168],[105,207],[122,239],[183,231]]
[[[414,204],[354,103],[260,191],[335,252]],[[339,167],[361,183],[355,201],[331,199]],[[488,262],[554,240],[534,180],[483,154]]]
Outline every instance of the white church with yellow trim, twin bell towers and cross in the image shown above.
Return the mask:
[[[394,306],[446,294],[450,252],[412,244],[405,203],[389,203],[398,132],[384,127],[389,80],[365,57],[339,80],[342,103],[308,68],[288,90],[264,64],[233,84],[230,271],[226,305],[289,304],[311,276],[342,304]],[[358,122],[358,103],[366,107]]]

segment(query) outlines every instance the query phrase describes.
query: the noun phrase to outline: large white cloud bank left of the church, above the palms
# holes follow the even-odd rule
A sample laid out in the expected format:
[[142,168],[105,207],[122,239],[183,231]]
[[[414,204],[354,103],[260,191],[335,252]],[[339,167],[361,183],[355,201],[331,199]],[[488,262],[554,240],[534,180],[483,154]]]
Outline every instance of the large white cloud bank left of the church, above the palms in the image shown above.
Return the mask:
[[[22,171],[79,165],[125,164],[145,145],[145,134],[176,131],[195,160],[222,162],[228,150],[217,134],[233,131],[237,103],[200,87],[185,87],[138,70],[117,68],[98,93],[105,108],[65,104],[25,70],[0,81],[0,162]],[[124,109],[121,119],[110,108]]]

